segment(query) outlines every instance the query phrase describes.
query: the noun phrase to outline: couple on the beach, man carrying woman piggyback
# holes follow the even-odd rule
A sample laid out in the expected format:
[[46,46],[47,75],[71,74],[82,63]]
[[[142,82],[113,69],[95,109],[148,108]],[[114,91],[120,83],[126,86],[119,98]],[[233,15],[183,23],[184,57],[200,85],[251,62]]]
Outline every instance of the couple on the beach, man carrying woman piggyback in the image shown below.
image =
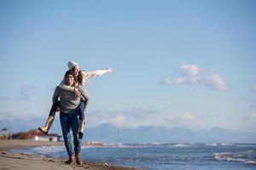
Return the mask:
[[[44,127],[38,127],[38,129],[39,131],[47,134],[52,122],[54,121],[55,111],[60,108],[61,129],[67,154],[69,156],[66,163],[73,163],[73,154],[75,153],[77,164],[80,165],[83,163],[79,152],[81,150],[80,139],[83,138],[84,134],[84,110],[87,108],[89,101],[89,94],[84,88],[85,81],[92,77],[110,73],[112,69],[107,68],[100,71],[80,71],[79,64],[74,61],[69,61],[67,66],[69,70],[65,73],[63,81],[55,88],[53,105],[49,111],[47,122]],[[60,100],[58,100],[59,98]],[[74,152],[72,148],[71,129],[73,131]]]

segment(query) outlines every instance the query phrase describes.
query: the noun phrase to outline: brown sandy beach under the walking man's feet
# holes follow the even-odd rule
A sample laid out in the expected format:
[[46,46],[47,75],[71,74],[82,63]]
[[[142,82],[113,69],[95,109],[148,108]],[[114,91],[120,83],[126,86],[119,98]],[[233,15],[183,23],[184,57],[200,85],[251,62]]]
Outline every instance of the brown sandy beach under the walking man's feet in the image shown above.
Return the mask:
[[25,153],[14,153],[10,150],[28,149],[36,146],[64,145],[62,142],[33,141],[33,140],[0,140],[0,170],[8,169],[87,169],[87,170],[137,170],[134,167],[118,167],[106,163],[95,163],[84,160],[83,165],[65,164],[63,159],[55,159],[46,156],[27,155]]

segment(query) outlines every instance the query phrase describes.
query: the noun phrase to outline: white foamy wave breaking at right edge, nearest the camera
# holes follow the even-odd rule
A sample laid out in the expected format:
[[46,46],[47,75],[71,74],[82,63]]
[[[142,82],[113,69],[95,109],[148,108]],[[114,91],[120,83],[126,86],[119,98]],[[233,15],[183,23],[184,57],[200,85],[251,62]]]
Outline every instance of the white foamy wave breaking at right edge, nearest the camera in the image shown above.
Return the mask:
[[214,159],[218,161],[233,161],[256,165],[256,150],[215,153]]

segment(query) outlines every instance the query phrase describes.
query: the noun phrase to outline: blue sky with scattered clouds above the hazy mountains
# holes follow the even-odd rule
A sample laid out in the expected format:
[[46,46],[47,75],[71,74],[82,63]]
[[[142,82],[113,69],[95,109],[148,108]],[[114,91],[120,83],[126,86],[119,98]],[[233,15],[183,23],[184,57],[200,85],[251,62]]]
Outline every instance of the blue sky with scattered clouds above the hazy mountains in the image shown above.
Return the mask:
[[89,126],[256,130],[255,1],[1,1],[1,119],[46,119],[67,62]]

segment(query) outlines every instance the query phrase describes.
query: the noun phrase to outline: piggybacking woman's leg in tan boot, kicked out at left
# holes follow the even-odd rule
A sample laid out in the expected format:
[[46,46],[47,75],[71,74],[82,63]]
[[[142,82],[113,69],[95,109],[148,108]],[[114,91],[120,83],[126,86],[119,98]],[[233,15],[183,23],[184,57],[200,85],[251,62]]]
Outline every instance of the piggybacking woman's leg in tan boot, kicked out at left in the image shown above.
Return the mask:
[[42,133],[47,134],[49,131],[49,128],[51,127],[52,123],[54,122],[55,119],[55,112],[57,110],[57,108],[60,105],[60,101],[56,101],[52,106],[51,109],[49,111],[49,116],[48,119],[44,125],[44,127],[38,127],[38,130],[41,131]]

